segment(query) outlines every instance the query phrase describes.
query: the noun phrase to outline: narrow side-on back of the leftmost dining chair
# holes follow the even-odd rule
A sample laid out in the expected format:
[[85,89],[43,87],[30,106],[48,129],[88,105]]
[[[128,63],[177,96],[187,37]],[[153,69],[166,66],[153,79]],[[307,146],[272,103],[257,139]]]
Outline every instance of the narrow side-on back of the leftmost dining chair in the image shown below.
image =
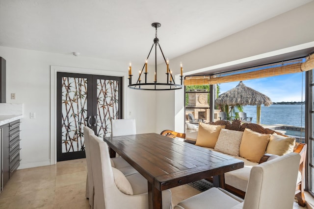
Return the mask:
[[92,163],[90,160],[90,145],[89,136],[94,135],[94,131],[87,126],[84,126],[84,144],[85,144],[85,154],[86,154],[86,164],[87,164],[87,182],[86,182],[86,197],[88,198],[89,205],[93,208],[94,205],[94,180],[93,180],[93,170]]

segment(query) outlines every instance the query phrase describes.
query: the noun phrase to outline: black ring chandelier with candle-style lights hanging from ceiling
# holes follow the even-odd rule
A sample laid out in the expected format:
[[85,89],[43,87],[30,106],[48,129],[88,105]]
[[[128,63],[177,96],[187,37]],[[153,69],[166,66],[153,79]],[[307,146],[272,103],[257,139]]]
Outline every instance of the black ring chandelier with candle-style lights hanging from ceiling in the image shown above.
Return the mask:
[[[153,90],[153,91],[161,91],[161,90],[177,90],[177,89],[182,89],[183,85],[182,85],[182,81],[183,81],[183,68],[182,68],[182,64],[181,64],[181,84],[176,84],[174,77],[172,75],[172,71],[169,68],[169,60],[166,60],[165,56],[163,55],[162,49],[159,45],[159,39],[157,38],[157,28],[161,26],[160,23],[152,23],[152,26],[155,27],[156,32],[155,32],[155,38],[154,38],[154,44],[151,47],[151,50],[148,53],[148,56],[146,58],[146,61],[143,65],[142,70],[139,70],[138,72],[138,78],[136,80],[136,82],[134,84],[132,84],[132,67],[131,67],[131,63],[130,63],[130,67],[129,67],[129,88],[130,89],[136,89],[136,90]],[[166,78],[164,81],[164,83],[159,83],[157,82],[157,45],[160,49],[160,52],[162,54],[162,57],[165,61],[166,64],[166,70],[165,70],[165,74],[166,74]],[[154,82],[153,83],[148,83],[147,82],[147,75],[148,75],[148,71],[147,71],[147,61],[149,58],[149,55],[152,52],[153,47],[155,46],[155,73],[154,73]],[[145,69],[145,70],[144,70]],[[144,74],[142,76],[142,74]],[[142,81],[143,79],[143,81]]]

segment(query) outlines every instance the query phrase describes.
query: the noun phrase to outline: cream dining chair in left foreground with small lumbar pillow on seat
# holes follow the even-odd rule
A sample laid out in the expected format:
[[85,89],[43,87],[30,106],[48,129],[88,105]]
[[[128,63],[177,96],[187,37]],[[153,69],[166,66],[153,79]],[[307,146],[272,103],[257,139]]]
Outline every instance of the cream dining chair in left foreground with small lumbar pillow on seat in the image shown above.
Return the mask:
[[[124,176],[111,167],[108,146],[90,136],[91,163],[95,184],[94,209],[148,209],[147,180],[139,173]],[[171,209],[171,191],[162,192],[163,209]]]

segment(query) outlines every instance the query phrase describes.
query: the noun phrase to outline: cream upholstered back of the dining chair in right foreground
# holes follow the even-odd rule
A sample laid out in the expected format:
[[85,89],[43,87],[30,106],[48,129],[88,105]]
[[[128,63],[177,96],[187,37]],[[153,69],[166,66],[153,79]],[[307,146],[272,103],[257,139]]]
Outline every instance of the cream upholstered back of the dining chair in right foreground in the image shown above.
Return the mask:
[[292,209],[300,159],[292,152],[253,166],[243,209]]

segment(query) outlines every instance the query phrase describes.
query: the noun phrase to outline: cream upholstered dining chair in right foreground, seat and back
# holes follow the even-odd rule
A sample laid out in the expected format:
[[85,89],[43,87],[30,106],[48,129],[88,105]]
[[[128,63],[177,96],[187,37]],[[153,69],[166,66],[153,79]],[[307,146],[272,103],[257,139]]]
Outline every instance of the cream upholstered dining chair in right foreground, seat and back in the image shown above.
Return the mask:
[[292,209],[301,156],[289,153],[252,167],[244,201],[222,188],[210,188],[174,209]]

